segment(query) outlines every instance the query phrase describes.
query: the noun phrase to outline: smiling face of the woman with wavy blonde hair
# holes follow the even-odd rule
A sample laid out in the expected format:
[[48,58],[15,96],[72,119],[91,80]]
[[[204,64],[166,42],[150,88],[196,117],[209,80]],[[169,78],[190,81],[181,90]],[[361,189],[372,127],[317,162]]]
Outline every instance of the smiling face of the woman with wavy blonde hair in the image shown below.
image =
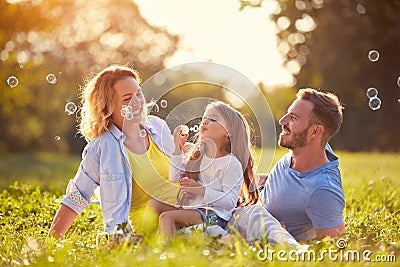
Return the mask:
[[124,117],[121,115],[121,109],[124,105],[132,108],[133,119],[131,122],[141,122],[145,99],[137,81],[133,77],[127,76],[114,84],[114,90],[114,109],[111,116],[113,123],[122,130]]

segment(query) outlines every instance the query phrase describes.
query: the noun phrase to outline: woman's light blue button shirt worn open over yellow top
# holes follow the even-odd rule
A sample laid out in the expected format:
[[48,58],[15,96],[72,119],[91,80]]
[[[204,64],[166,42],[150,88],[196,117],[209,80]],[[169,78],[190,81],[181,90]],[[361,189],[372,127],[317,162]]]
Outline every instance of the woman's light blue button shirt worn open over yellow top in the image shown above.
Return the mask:
[[[148,116],[144,127],[158,148],[170,156],[175,146],[166,122],[156,116]],[[124,146],[125,138],[111,124],[108,131],[89,142],[82,152],[78,171],[70,180],[61,201],[80,214],[89,207],[94,190],[100,187],[104,231],[107,233],[115,230],[118,224],[129,221],[132,170]]]

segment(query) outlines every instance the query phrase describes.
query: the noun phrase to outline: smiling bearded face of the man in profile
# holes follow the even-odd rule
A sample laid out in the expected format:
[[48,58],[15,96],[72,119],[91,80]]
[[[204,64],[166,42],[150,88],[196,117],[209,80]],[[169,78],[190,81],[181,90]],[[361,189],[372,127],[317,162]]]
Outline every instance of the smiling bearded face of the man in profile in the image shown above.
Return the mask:
[[312,109],[313,104],[310,101],[296,99],[293,102],[288,112],[279,120],[282,125],[279,146],[293,150],[308,144]]

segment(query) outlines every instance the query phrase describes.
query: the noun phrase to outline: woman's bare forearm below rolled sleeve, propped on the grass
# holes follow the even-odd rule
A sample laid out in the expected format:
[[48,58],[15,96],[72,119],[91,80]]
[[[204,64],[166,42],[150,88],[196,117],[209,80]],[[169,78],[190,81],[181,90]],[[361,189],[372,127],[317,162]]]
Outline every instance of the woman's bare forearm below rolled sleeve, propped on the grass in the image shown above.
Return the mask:
[[61,204],[56,215],[54,216],[48,236],[61,239],[71,227],[71,224],[75,220],[76,216],[78,216],[78,214],[76,214],[75,211],[64,204]]

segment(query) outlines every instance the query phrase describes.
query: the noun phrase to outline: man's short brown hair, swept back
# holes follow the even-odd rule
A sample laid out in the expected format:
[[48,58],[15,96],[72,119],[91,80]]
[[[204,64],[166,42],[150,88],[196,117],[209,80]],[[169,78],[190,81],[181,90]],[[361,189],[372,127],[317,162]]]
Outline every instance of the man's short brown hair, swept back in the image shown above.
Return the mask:
[[314,118],[311,118],[310,123],[320,123],[324,126],[326,141],[339,131],[343,122],[343,106],[336,95],[305,88],[300,89],[296,97],[314,104]]

